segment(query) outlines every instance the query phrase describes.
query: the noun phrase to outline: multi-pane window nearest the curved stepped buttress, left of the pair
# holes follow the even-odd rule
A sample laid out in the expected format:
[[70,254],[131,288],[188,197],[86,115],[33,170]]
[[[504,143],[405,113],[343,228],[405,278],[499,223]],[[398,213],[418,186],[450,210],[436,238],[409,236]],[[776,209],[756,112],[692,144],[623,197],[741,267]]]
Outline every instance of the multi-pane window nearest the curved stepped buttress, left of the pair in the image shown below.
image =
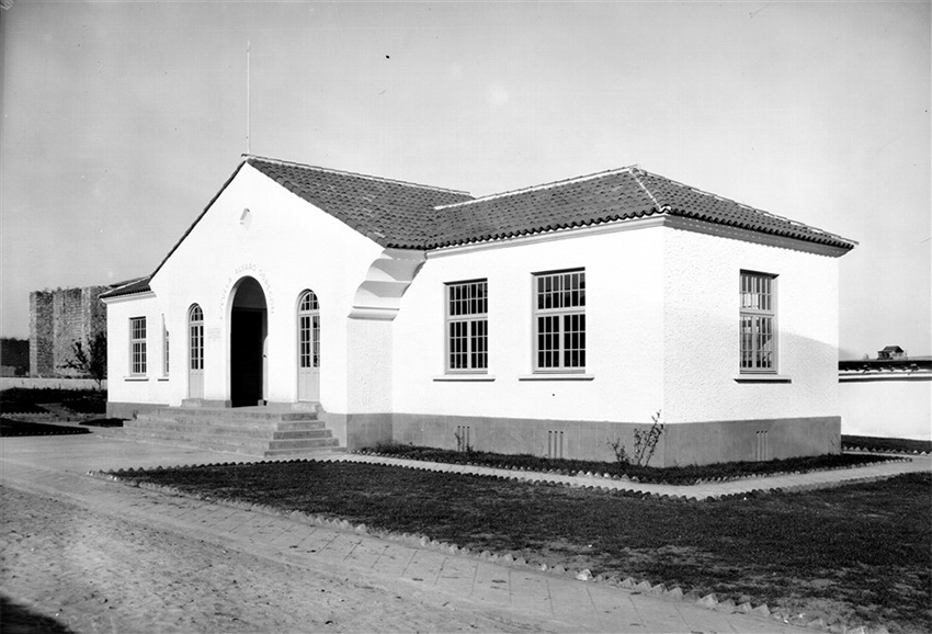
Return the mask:
[[446,285],[446,370],[487,372],[489,369],[488,281]]

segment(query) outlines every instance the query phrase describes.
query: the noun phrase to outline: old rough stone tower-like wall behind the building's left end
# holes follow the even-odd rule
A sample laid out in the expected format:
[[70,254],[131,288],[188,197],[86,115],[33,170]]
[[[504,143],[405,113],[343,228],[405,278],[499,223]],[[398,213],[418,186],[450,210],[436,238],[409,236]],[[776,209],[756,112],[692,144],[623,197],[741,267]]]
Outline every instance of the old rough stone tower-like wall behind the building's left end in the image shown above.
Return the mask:
[[64,367],[75,341],[89,341],[106,329],[107,286],[59,288],[30,293],[30,376],[73,376]]

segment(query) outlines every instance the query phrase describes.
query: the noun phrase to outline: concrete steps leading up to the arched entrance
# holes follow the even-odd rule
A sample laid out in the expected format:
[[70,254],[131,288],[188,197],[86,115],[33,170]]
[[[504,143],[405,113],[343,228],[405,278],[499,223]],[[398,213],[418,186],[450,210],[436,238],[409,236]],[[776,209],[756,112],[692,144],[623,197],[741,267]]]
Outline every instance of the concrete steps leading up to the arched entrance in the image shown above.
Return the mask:
[[123,423],[126,438],[245,455],[281,457],[342,451],[316,408],[162,407]]

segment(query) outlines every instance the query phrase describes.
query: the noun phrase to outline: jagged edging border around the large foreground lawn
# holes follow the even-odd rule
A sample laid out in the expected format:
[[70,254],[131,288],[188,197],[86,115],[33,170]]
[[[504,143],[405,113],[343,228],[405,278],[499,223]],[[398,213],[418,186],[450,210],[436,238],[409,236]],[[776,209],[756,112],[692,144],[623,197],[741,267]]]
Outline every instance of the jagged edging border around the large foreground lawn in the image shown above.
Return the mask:
[[[906,458],[907,461],[909,458]],[[189,494],[179,489],[178,487],[172,487],[168,485],[158,485],[152,483],[137,483],[127,478],[126,475],[133,474],[135,472],[146,472],[146,471],[163,471],[168,468],[196,468],[196,467],[205,467],[205,466],[245,466],[245,465],[254,465],[254,464],[271,464],[271,463],[297,463],[297,462],[353,462],[342,458],[340,456],[328,457],[325,460],[317,458],[295,458],[289,461],[261,461],[255,463],[247,463],[247,462],[228,462],[228,463],[205,463],[198,465],[179,465],[172,467],[155,467],[150,469],[139,468],[139,469],[117,469],[114,472],[99,472],[99,471],[90,471],[88,472],[88,476],[105,479],[111,482],[117,482],[125,486],[135,486],[141,489],[152,490],[162,494],[175,495],[180,497],[187,497],[197,500],[202,500],[209,503],[215,503],[219,506],[225,506],[235,509],[242,509],[251,512],[262,513],[265,516],[272,517],[282,517],[287,518],[291,521],[312,525],[320,527],[331,530],[338,530],[343,532],[351,532],[362,535],[370,535],[376,539],[386,540],[390,542],[399,542],[412,547],[432,550],[444,554],[451,555],[459,555],[466,557],[474,557],[478,559],[489,561],[497,564],[508,565],[512,567],[530,567],[538,573],[550,574],[555,576],[571,576],[579,581],[586,582],[595,582],[595,584],[604,584],[609,586],[614,586],[617,588],[622,588],[628,590],[633,593],[648,593],[655,595],[658,597],[664,597],[668,599],[677,600],[677,601],[685,601],[689,603],[693,603],[695,605],[706,608],[708,610],[715,610],[717,612],[725,613],[741,613],[749,614],[751,616],[757,616],[759,619],[771,619],[774,621],[780,621],[782,623],[787,623],[791,625],[807,627],[809,630],[820,631],[820,632],[831,632],[832,634],[889,634],[889,631],[886,626],[879,625],[875,627],[868,627],[866,625],[856,625],[854,627],[849,627],[841,622],[832,622],[828,623],[822,616],[818,616],[816,619],[807,619],[803,614],[793,614],[792,611],[786,611],[781,608],[776,608],[771,610],[766,603],[761,603],[760,605],[753,607],[750,602],[741,602],[736,603],[731,598],[725,598],[724,600],[719,600],[719,598],[715,593],[709,593],[705,596],[700,596],[694,590],[683,591],[680,586],[673,586],[668,588],[668,585],[664,582],[652,584],[647,579],[643,579],[638,581],[634,577],[626,577],[624,579],[621,578],[620,575],[595,575],[592,576],[592,573],[587,568],[582,570],[573,570],[568,569],[561,564],[557,564],[554,566],[548,565],[546,562],[533,561],[528,562],[524,557],[515,557],[512,553],[505,553],[501,555],[499,553],[491,553],[489,551],[481,551],[477,553],[468,547],[462,547],[457,544],[451,544],[447,542],[440,542],[437,540],[431,540],[428,535],[421,535],[418,533],[399,533],[397,531],[390,530],[379,530],[379,529],[371,529],[365,524],[356,524],[353,525],[348,520],[337,520],[325,518],[323,516],[316,513],[306,513],[304,511],[293,510],[288,511],[286,509],[277,509],[268,505],[261,503],[251,503],[243,500],[235,499],[235,498],[214,498],[207,495],[201,494]],[[905,461],[890,461],[890,462],[905,462]],[[372,463],[368,463],[372,464]],[[384,463],[383,463],[384,464]],[[428,463],[430,464],[430,463]],[[443,463],[433,463],[433,464],[443,464]],[[874,463],[877,464],[877,463]],[[401,466],[405,468],[418,468],[421,471],[435,471],[430,469],[425,466],[421,465],[393,465],[393,466]],[[464,466],[464,465],[455,465],[455,466]],[[126,475],[124,475],[126,474]],[[513,479],[513,480],[524,480],[519,475],[492,475],[492,474],[463,474],[463,475],[479,475],[482,477],[498,477],[501,479]],[[749,491],[745,494],[734,494],[728,496],[718,496],[707,499],[736,499],[739,497],[746,497],[748,495],[752,495],[755,493],[783,493],[783,491],[804,491],[811,490],[816,488],[834,488],[838,486],[846,486],[849,484],[861,484],[868,482],[876,482],[880,479],[886,479],[891,476],[868,476],[863,478],[855,478],[850,480],[844,480],[841,483],[822,483],[816,485],[798,485],[794,487],[787,487],[785,489],[776,488],[776,489],[754,489],[754,491]],[[555,480],[531,480],[532,484],[535,485],[549,485],[549,486],[583,486],[583,485],[573,485],[570,483],[557,483]],[[614,487],[593,487],[593,486],[584,486],[583,488],[600,488],[600,489],[609,489],[621,493],[628,493],[625,489],[616,489]],[[683,496],[667,496],[667,495],[657,495],[650,493],[643,493],[643,498],[660,498],[660,499],[686,499]],[[686,501],[696,501],[696,498],[689,498]]]

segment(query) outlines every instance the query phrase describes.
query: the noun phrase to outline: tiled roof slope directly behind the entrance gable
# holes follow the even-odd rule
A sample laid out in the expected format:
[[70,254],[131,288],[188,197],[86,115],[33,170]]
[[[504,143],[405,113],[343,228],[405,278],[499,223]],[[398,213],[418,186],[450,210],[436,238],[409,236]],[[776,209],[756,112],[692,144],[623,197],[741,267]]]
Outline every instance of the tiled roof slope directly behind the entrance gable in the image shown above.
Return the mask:
[[434,207],[471,200],[466,192],[248,156],[246,162],[295,195],[383,247],[422,249]]

